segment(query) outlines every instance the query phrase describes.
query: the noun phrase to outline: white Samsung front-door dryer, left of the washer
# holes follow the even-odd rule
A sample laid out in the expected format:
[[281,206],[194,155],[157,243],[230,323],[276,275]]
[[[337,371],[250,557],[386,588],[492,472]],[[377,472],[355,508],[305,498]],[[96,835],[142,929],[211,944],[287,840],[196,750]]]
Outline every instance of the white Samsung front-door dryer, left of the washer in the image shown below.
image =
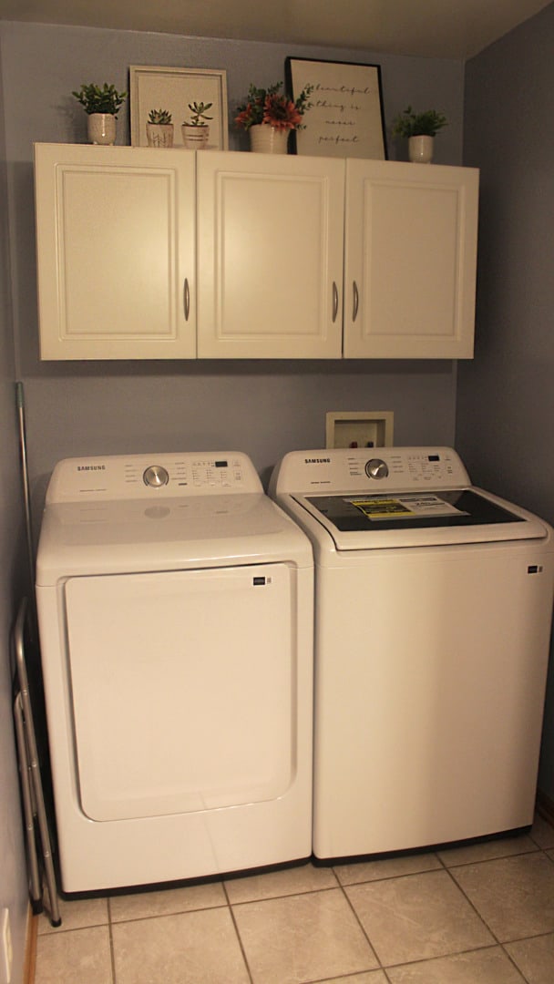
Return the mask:
[[36,600],[65,892],[310,855],[313,556],[244,454],[61,461]]

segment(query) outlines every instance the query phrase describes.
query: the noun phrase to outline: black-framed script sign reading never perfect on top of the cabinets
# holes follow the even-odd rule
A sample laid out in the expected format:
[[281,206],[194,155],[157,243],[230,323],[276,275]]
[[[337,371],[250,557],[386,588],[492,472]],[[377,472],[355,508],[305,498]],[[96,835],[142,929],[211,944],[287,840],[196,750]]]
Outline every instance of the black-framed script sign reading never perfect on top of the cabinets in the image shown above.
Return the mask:
[[313,86],[294,153],[387,159],[380,65],[288,57],[284,73],[293,99]]

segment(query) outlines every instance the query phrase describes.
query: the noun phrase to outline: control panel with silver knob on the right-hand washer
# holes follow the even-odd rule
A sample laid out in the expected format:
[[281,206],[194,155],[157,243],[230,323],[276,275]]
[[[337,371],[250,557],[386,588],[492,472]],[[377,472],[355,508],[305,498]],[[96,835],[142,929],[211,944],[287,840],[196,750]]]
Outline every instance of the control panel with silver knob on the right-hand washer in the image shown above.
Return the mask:
[[285,455],[270,491],[368,492],[461,488],[469,476],[452,448],[326,448]]

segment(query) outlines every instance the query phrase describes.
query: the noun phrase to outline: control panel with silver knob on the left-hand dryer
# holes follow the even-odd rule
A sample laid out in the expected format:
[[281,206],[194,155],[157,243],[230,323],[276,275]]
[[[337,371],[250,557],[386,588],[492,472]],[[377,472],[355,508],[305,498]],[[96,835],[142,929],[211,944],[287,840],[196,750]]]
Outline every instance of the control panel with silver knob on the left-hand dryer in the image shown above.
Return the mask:
[[242,452],[115,455],[59,461],[46,504],[263,491],[252,461]]

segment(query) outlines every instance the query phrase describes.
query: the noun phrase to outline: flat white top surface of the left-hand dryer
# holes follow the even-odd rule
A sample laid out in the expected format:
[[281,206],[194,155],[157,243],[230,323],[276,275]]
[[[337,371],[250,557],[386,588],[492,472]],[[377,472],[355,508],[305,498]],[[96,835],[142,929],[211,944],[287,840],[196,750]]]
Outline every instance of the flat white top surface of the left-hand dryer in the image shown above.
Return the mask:
[[313,565],[305,534],[263,492],[55,503],[44,511],[36,584],[272,560]]

